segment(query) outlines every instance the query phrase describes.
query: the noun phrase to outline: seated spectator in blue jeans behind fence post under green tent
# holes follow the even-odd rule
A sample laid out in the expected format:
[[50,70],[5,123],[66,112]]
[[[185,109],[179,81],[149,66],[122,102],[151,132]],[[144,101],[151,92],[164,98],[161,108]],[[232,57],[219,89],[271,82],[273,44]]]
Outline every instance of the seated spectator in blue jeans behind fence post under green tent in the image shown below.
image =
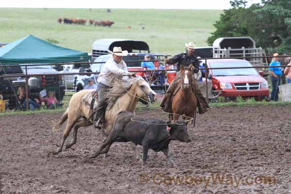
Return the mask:
[[[26,109],[26,94],[25,94],[24,87],[20,86],[18,88],[17,97],[19,100],[18,108]],[[29,104],[30,110],[32,111],[35,111],[35,108],[40,108],[39,100],[37,98],[34,98],[34,100],[32,100],[32,97],[30,95],[28,96],[28,104]]]

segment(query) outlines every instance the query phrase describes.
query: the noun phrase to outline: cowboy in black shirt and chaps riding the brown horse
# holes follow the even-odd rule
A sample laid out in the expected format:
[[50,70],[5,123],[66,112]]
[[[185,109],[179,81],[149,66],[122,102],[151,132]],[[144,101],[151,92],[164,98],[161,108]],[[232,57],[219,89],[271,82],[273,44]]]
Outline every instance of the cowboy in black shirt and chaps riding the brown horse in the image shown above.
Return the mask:
[[[175,55],[171,59],[165,59],[165,63],[167,63],[169,65],[173,65],[175,63],[178,63],[178,71],[180,71],[180,65],[188,67],[189,65],[192,64],[194,66],[194,73],[198,73],[199,60],[194,55],[194,48],[195,48],[194,43],[193,42],[190,42],[189,44],[186,43],[186,48],[187,48],[186,53],[181,53],[181,54]],[[169,88],[168,88],[168,90],[167,90],[167,92],[162,100],[160,108],[165,112],[169,112],[171,110],[172,95],[178,86],[178,80],[180,78],[181,78],[180,72],[178,72],[176,78],[171,82],[171,84],[170,84],[170,86],[169,86]],[[203,97],[201,90],[196,82],[194,83],[194,93],[199,101],[199,103],[198,103],[199,113],[202,114],[202,113],[207,112],[208,111],[207,109],[209,108],[208,102]]]

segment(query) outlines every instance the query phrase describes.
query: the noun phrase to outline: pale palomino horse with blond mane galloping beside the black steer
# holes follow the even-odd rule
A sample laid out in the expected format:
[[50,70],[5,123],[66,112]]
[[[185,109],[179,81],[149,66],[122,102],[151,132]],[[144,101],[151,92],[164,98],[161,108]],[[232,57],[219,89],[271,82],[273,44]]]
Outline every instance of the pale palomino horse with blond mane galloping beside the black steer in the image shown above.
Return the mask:
[[[114,104],[112,108],[110,110],[106,110],[105,113],[106,134],[111,132],[115,117],[120,111],[129,111],[133,113],[138,100],[146,101],[147,103],[153,103],[155,101],[156,93],[150,88],[148,83],[143,78],[137,77],[130,80],[131,81],[125,85],[120,83],[115,84],[115,86],[109,91],[107,97],[109,97],[109,101],[114,101]],[[76,144],[77,131],[79,128],[93,125],[93,123],[89,121],[88,118],[90,117],[90,103],[94,93],[95,90],[81,90],[72,96],[66,112],[63,114],[58,123],[53,127],[53,131],[57,131],[60,129],[65,120],[68,119],[61,146],[59,146],[57,151],[50,153],[56,155],[62,152],[65,139],[68,137],[71,129],[74,129],[73,140],[71,143],[65,146],[65,149],[70,148]],[[89,101],[87,101],[87,103],[83,103],[82,100],[84,98],[89,99]],[[95,106],[96,104],[97,102],[95,103]],[[138,158],[134,145],[132,145],[132,149]]]

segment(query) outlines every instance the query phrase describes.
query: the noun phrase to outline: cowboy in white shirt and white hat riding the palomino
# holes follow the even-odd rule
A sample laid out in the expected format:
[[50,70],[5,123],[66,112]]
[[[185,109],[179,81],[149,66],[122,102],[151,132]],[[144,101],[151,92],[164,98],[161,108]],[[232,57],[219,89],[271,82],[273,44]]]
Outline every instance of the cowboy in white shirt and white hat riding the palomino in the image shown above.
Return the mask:
[[104,123],[105,111],[107,107],[107,102],[104,95],[107,93],[108,89],[113,86],[116,80],[125,80],[128,79],[127,76],[135,75],[135,73],[128,72],[127,65],[122,60],[122,56],[128,55],[127,50],[122,50],[120,47],[114,47],[113,52],[109,52],[112,53],[112,58],[104,64],[97,80],[98,104],[93,119],[95,127],[98,127],[100,122]]

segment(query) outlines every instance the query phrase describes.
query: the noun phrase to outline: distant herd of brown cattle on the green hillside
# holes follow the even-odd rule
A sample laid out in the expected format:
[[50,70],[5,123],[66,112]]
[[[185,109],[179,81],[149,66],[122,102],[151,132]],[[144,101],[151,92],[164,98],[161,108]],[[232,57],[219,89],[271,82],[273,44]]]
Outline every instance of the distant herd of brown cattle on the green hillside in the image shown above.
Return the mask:
[[[61,24],[64,22],[64,24],[80,24],[85,25],[86,19],[76,19],[76,18],[58,18],[58,22]],[[94,26],[108,26],[111,27],[112,24],[114,24],[113,21],[110,20],[99,20],[95,21],[94,19],[89,19],[89,24]]]

